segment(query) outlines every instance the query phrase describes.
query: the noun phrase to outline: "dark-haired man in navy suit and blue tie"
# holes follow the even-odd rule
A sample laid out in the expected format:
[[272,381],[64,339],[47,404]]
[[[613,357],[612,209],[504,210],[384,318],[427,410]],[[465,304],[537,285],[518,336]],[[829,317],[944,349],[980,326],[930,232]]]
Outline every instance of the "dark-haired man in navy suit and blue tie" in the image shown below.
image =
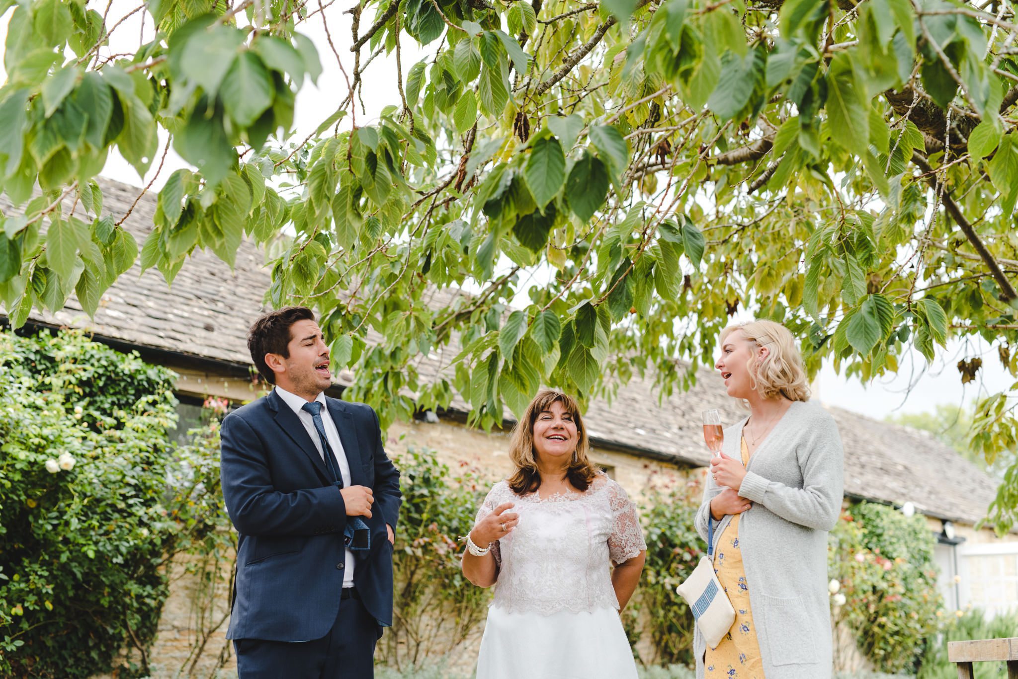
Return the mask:
[[323,393],[329,347],[310,309],[266,314],[247,346],[275,388],[222,425],[223,497],[239,533],[227,632],[237,672],[373,677],[392,624],[399,471],[375,411]]

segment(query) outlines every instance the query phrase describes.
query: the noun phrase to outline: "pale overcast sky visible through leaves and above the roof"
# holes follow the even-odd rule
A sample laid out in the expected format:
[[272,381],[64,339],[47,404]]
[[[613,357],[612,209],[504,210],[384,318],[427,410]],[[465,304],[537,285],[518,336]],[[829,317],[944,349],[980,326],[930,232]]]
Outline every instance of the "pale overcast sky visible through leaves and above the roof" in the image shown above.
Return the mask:
[[[317,9],[318,2],[319,0],[310,0],[307,6]],[[326,9],[330,34],[348,74],[352,72],[353,68],[352,53],[349,51],[352,42],[350,15],[344,14],[343,11],[347,9],[346,5],[353,4],[352,0],[340,0]],[[135,6],[133,2],[114,0],[109,16],[122,16],[134,9]],[[142,14],[142,12],[134,14],[116,30],[113,36],[113,52],[128,52],[136,49],[139,44],[138,36],[142,35],[139,30],[143,30],[139,20]],[[8,11],[0,22],[0,32],[2,32],[4,39],[6,38],[9,17],[10,12]],[[365,10],[360,22],[361,33],[374,22],[374,8]],[[329,117],[347,92],[346,81],[337,65],[336,56],[326,40],[322,22],[313,19],[301,24],[299,30],[307,35],[318,47],[323,73],[317,86],[305,83],[297,95],[295,139],[304,138],[319,123]],[[151,25],[145,26],[143,31],[145,40],[151,40]],[[414,41],[405,33],[400,42],[403,47],[402,70],[405,74],[416,61],[427,58],[429,52],[417,49]],[[432,51],[436,46],[437,44],[431,46]],[[104,54],[109,54],[109,51],[104,49]],[[365,46],[362,48],[361,58],[366,59],[369,54]],[[2,71],[2,66],[0,66],[0,71]],[[385,54],[379,55],[367,72],[370,77],[365,78],[362,94],[364,108],[362,110],[358,102],[354,115],[358,126],[377,120],[378,114],[384,106],[399,102],[395,55],[391,57],[387,57]],[[343,121],[343,126],[348,127],[350,122],[351,117],[347,116]],[[116,152],[110,155],[103,174],[125,183],[146,185],[156,174],[165,142],[164,133],[160,139],[159,154],[145,177],[139,177],[137,172],[124,162]],[[170,149],[163,170],[153,184],[153,189],[158,190],[173,170],[181,167],[187,167],[187,164]],[[940,403],[967,404],[980,391],[983,394],[987,389],[1000,391],[1011,384],[1011,380],[997,358],[996,349],[983,343],[981,346],[973,345],[972,349],[984,354],[983,369],[980,371],[979,377],[985,381],[985,384],[973,383],[964,388],[955,367],[959,357],[964,355],[963,348],[964,346],[960,343],[950,345],[947,350],[939,348],[938,359],[928,366],[922,356],[918,352],[914,352],[911,359],[906,358],[901,361],[901,371],[897,376],[875,380],[865,385],[856,378],[845,378],[837,375],[834,369],[828,364],[822,371],[817,383],[814,385],[816,387],[814,396],[826,404],[883,419],[889,414],[900,412],[931,411]]]

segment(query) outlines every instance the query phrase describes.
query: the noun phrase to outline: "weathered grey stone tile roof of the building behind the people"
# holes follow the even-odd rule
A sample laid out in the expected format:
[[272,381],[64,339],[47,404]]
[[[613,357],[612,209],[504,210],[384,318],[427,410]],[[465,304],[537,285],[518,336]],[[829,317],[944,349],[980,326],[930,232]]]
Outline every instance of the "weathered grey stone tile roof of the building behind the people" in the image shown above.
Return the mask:
[[[108,179],[100,180],[105,208],[122,216],[138,189]],[[124,222],[142,243],[152,230],[155,194],[144,196]],[[0,209],[9,209],[0,196]],[[68,206],[69,209],[69,206]],[[172,288],[155,270],[139,275],[138,265],[107,291],[91,324],[76,299],[57,314],[34,313],[31,320],[48,325],[89,326],[97,335],[139,347],[248,365],[247,326],[264,308],[263,294],[270,276],[261,253],[243,243],[236,269],[214,254],[195,251]],[[433,303],[447,305],[463,293],[436,291]],[[367,340],[372,341],[373,337]],[[421,376],[448,370],[451,354],[435,351],[418,359]],[[340,374],[340,384],[352,375]],[[659,402],[648,380],[634,378],[619,388],[609,403],[589,403],[584,415],[595,443],[637,455],[671,460],[680,465],[703,466],[709,453],[702,441],[700,413],[718,408],[722,420],[743,415],[720,382],[708,370],[697,375],[688,392]],[[452,409],[466,411],[458,397]],[[846,494],[885,503],[911,501],[938,518],[974,523],[985,515],[997,483],[953,449],[922,432],[880,422],[862,415],[830,408],[845,443]]]

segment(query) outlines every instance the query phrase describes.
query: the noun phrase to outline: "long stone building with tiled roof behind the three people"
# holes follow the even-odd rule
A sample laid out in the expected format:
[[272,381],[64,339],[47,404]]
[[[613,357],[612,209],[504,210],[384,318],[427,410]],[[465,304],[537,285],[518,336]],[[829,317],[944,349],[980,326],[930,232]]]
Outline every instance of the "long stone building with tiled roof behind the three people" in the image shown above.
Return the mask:
[[[139,189],[101,180],[105,207],[120,217]],[[68,209],[69,209],[68,205]],[[143,196],[124,222],[140,243],[152,230],[156,196]],[[0,197],[5,213],[9,205]],[[122,350],[136,350],[144,358],[177,373],[176,393],[181,423],[195,421],[208,396],[240,403],[259,396],[263,388],[252,380],[245,334],[250,321],[264,308],[269,273],[262,254],[244,242],[235,270],[209,252],[195,251],[167,286],[155,270],[139,273],[138,264],[104,295],[94,321],[76,299],[57,314],[34,313],[36,327],[83,327],[95,339]],[[0,317],[5,320],[5,317]],[[440,370],[441,356],[422,359],[421,373]],[[352,376],[340,374],[335,391],[341,393]],[[593,458],[630,494],[639,495],[655,474],[699,479],[709,452],[701,436],[700,412],[718,408],[723,421],[741,416],[737,406],[709,371],[697,375],[686,393],[663,401],[651,384],[634,379],[619,388],[612,403],[595,400],[584,420],[591,436]],[[485,433],[465,425],[467,406],[455,401],[439,414],[398,422],[388,431],[388,449],[431,448],[447,462],[474,462],[493,479],[509,468],[508,434]],[[938,536],[937,558],[941,589],[949,608],[979,606],[991,612],[1018,607],[1018,542],[997,539],[973,526],[985,515],[995,497],[996,482],[928,435],[875,421],[847,410],[830,408],[845,444],[845,494],[894,506],[911,503],[926,517]],[[960,582],[956,582],[960,575]],[[160,625],[152,662],[173,676],[193,645],[194,620],[189,593],[196,586],[177,580]],[[226,614],[225,598],[219,613]],[[208,662],[224,645],[226,625],[208,642]],[[205,661],[204,661],[205,662]]]

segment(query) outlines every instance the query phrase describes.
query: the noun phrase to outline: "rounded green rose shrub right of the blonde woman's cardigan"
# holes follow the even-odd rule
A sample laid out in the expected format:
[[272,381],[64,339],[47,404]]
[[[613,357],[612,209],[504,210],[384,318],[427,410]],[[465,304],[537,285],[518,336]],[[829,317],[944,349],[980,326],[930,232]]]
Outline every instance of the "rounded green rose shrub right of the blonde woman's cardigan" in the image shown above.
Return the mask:
[[846,600],[835,620],[849,625],[882,672],[913,670],[924,640],[937,632],[935,546],[922,516],[869,502],[844,512],[831,532],[831,577]]

